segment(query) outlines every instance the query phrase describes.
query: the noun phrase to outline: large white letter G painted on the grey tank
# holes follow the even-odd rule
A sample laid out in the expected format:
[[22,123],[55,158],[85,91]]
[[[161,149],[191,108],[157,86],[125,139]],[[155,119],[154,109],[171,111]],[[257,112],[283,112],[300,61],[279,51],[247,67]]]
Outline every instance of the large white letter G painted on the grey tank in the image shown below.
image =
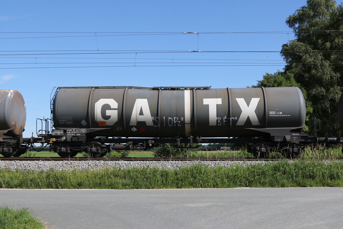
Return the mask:
[[110,116],[109,119],[103,119],[101,116],[101,108],[105,105],[110,105],[111,108],[118,108],[118,103],[114,99],[99,99],[95,103],[95,121],[106,122],[106,125],[113,125],[118,121],[118,110],[106,110],[106,115]]

